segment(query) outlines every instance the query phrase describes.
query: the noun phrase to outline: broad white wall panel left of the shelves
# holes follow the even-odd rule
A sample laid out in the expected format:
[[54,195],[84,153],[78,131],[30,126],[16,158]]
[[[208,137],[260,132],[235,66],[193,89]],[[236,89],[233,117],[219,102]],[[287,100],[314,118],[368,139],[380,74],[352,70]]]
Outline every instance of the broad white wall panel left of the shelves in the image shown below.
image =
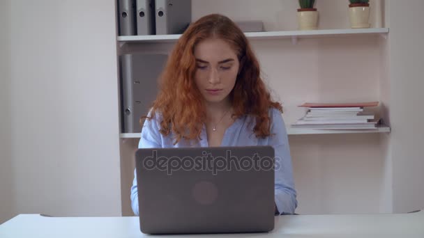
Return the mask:
[[121,215],[115,1],[13,0],[17,213]]

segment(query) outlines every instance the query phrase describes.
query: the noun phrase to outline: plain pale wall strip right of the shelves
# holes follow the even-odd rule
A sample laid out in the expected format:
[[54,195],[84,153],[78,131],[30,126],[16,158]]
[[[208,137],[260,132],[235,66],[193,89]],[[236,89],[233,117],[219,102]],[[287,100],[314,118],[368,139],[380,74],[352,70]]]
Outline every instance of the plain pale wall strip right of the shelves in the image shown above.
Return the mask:
[[393,212],[424,208],[424,1],[390,1]]

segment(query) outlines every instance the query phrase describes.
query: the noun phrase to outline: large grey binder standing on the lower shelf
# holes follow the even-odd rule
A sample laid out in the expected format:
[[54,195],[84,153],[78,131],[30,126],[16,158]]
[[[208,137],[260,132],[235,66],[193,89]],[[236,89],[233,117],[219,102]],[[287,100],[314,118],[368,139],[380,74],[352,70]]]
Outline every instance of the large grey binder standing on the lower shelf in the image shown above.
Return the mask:
[[[166,54],[124,54],[121,63],[121,122],[123,133],[140,133],[140,118],[149,113],[158,93],[158,77]],[[144,122],[144,121],[142,121]]]

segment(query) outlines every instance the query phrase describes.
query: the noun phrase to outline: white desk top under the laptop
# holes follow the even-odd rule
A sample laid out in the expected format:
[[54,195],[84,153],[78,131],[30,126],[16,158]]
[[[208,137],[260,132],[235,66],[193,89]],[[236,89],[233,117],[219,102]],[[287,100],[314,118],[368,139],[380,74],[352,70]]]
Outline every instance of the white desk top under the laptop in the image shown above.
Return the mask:
[[424,211],[411,214],[298,215],[275,217],[270,233],[148,236],[138,217],[45,217],[21,214],[0,225],[1,238],[18,237],[424,237]]

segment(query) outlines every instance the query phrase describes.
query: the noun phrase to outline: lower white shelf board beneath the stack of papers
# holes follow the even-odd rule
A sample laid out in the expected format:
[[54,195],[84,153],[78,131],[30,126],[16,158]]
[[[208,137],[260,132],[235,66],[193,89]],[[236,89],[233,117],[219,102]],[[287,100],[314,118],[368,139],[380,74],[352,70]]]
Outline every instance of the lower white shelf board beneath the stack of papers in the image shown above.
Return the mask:
[[[390,127],[379,125],[377,129],[299,129],[286,125],[288,135],[307,134],[358,134],[358,133],[386,133],[390,132]],[[139,133],[122,133],[121,138],[140,138]]]

